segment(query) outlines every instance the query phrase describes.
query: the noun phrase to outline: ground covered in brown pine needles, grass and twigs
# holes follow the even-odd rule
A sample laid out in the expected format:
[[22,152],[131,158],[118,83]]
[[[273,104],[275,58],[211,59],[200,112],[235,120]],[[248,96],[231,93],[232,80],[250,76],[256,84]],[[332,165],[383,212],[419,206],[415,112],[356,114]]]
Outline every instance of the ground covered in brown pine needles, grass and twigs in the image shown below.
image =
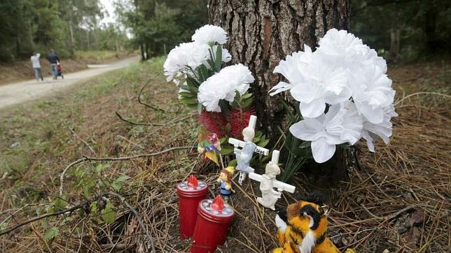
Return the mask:
[[[175,185],[195,173],[214,196],[217,168],[191,148],[196,115],[177,102],[173,85],[155,77],[162,62],[153,59],[0,112],[0,233],[82,204],[0,236],[1,252],[147,252],[151,243],[137,218],[107,193],[124,196],[137,210],[157,252],[189,251],[190,240],[179,239]],[[323,191],[331,208],[328,236],[340,250],[449,252],[450,67],[397,66],[389,75],[399,114],[391,143],[377,143],[375,154],[360,143],[360,166],[334,187],[320,188],[298,173],[296,194],[284,194],[278,205]],[[270,252],[277,247],[275,212],[256,204],[258,185],[248,181],[235,190],[236,217],[218,252]]]

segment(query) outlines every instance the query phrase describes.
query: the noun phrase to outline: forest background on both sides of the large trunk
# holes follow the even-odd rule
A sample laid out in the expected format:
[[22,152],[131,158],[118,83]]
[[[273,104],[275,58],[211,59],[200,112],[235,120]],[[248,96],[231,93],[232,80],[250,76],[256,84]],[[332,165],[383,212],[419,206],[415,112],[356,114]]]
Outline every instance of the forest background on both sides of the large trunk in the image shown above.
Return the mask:
[[[451,10],[444,0],[351,1],[351,31],[391,62],[415,61],[449,52]],[[165,55],[190,41],[208,23],[207,0],[113,1],[114,23],[99,0],[4,0],[0,3],[0,62],[28,59],[55,49],[139,49],[141,59]]]

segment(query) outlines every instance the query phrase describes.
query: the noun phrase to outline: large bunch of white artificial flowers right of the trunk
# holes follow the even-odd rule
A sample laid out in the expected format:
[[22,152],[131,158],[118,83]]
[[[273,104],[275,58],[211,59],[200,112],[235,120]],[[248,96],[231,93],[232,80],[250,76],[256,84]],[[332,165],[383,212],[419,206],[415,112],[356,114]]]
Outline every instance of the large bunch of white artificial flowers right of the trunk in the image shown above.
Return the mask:
[[288,55],[274,72],[288,82],[272,87],[270,95],[289,91],[298,101],[302,120],[290,132],[305,140],[303,147],[310,145],[318,163],[331,159],[336,145],[354,145],[360,138],[371,152],[376,138],[389,143],[390,120],[397,114],[387,64],[354,34],[331,29],[317,50],[305,45],[304,52]]

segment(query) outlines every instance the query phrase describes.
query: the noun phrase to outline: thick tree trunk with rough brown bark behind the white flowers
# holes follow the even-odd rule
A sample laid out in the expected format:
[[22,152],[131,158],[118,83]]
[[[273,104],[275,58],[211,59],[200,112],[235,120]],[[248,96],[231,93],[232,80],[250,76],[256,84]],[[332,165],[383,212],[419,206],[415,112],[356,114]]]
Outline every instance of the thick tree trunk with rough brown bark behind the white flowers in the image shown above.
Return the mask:
[[[331,28],[349,27],[348,0],[209,0],[209,20],[228,32],[228,49],[233,62],[249,66],[256,77],[254,96],[258,122],[272,140],[279,137],[284,95],[268,91],[282,80],[275,66],[304,44],[315,48],[319,38]],[[345,161],[345,152],[336,152],[331,161]],[[337,175],[345,175],[344,163],[326,163]],[[342,180],[338,176],[335,180]]]

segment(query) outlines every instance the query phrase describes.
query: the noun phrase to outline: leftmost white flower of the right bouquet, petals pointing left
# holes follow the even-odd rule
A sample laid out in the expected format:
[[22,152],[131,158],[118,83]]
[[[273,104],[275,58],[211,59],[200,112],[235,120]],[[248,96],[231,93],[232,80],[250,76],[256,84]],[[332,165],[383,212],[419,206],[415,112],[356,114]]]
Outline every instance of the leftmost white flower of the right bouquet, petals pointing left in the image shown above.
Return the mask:
[[281,73],[289,82],[279,82],[275,87],[272,87],[270,96],[285,92],[291,89],[299,82],[304,82],[303,74],[301,70],[307,66],[307,63],[312,62],[313,53],[312,49],[308,45],[304,45],[305,52],[293,52],[291,55],[287,55],[285,60],[279,62],[274,68],[274,73]]

